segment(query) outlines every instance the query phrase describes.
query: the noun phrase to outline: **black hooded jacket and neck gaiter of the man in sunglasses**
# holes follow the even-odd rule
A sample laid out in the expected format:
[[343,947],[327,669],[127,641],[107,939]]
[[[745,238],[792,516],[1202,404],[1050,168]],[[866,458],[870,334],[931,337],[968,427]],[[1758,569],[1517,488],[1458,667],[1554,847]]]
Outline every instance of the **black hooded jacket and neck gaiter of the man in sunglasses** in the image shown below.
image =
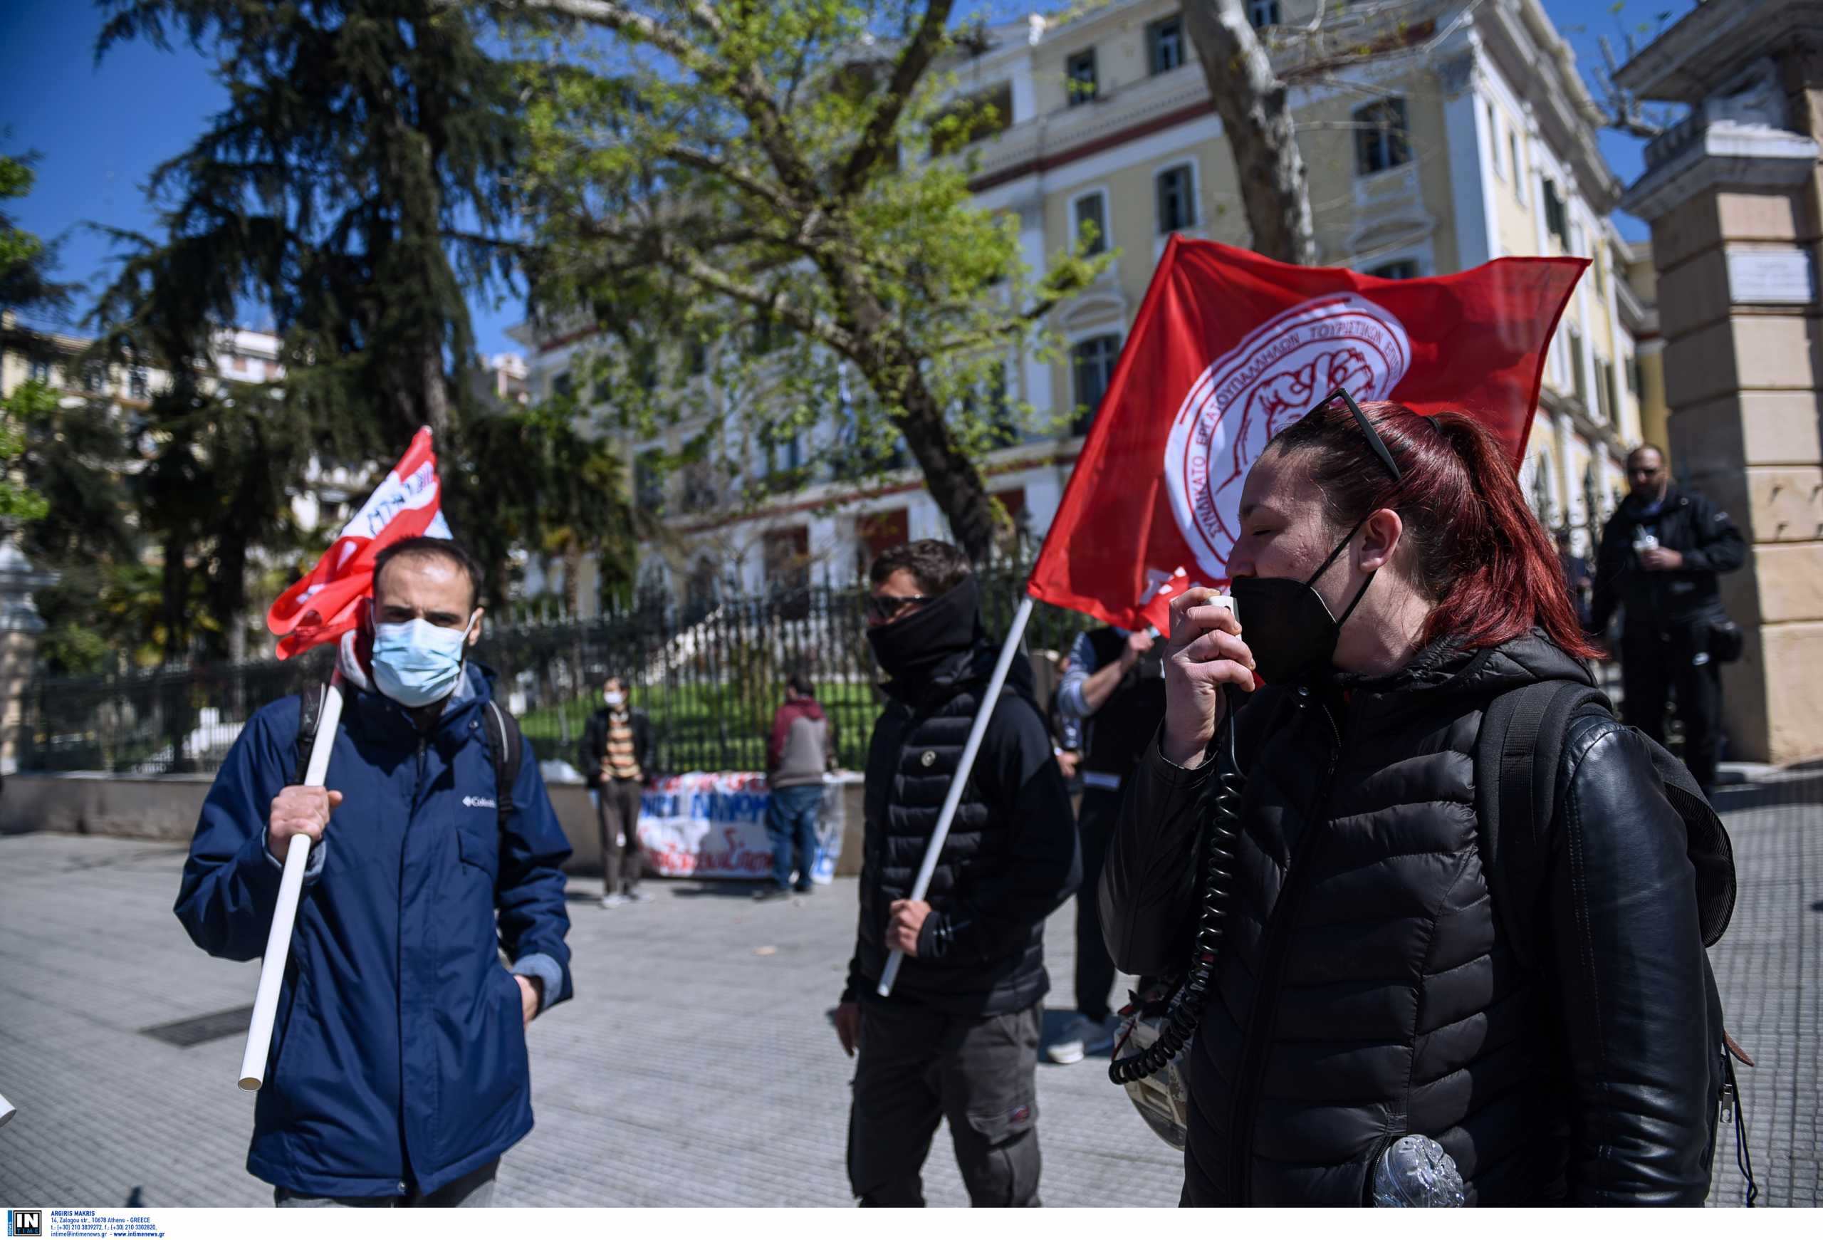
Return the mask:
[[[910,616],[928,638],[917,675],[888,682],[886,711],[873,726],[860,925],[844,1003],[877,997],[888,910],[912,894],[994,673],[997,651],[975,613],[973,584],[957,591],[966,596],[946,594],[926,605],[930,615]],[[937,615],[942,607],[953,615]],[[932,875],[919,954],[901,965],[890,1003],[963,1016],[1032,1007],[1050,990],[1045,919],[1081,879],[1076,817],[1032,700],[1032,666],[1014,658]]]

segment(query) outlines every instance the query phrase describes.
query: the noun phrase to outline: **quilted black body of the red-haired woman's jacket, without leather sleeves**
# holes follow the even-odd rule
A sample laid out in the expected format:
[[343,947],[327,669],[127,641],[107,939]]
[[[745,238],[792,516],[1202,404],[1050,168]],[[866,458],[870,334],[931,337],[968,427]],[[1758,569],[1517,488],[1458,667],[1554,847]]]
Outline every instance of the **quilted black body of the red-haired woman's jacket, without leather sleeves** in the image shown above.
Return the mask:
[[1544,985],[1497,932],[1475,821],[1482,708],[1531,680],[1588,673],[1539,638],[1444,644],[1240,713],[1232,914],[1187,1069],[1189,1204],[1364,1204],[1406,1132],[1449,1151],[1471,1204],[1562,1196],[1562,1056]]

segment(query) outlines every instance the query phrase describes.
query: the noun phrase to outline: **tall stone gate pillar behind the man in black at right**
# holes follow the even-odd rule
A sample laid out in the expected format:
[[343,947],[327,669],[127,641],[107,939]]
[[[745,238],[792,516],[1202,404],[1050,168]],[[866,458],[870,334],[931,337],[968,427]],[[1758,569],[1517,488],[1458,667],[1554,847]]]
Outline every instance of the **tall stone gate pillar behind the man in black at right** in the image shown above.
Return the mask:
[[[1746,655],[1723,673],[1728,757],[1823,755],[1823,425],[1814,60],[1754,60],[1646,148],[1622,206],[1652,224],[1677,485],[1752,543],[1723,578]],[[1790,89],[1792,84],[1799,89]],[[1799,106],[1792,106],[1797,102]]]

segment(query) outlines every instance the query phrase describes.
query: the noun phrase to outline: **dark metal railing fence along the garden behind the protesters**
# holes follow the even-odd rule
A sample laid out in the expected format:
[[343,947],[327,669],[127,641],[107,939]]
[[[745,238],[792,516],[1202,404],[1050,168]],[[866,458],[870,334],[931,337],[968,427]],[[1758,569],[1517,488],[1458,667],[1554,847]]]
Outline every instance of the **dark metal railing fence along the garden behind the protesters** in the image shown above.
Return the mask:
[[[988,629],[1004,633],[1025,565],[981,573]],[[864,587],[819,585],[685,609],[667,598],[585,622],[483,629],[476,658],[520,717],[540,760],[578,764],[602,682],[620,675],[647,711],[665,771],[764,770],[786,677],[817,682],[844,766],[864,762],[884,698],[862,618]],[[1087,616],[1039,605],[1030,649],[1068,649]],[[24,700],[20,766],[137,775],[221,766],[261,706],[328,677],[328,651],[290,662],[160,669],[129,677],[40,677]]]

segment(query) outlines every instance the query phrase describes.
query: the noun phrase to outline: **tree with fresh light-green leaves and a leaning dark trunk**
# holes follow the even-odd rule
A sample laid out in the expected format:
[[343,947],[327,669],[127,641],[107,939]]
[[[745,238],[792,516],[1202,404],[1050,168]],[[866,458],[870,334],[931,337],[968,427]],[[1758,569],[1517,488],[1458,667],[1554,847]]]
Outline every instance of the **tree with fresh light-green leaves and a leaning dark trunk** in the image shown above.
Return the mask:
[[957,98],[944,69],[979,31],[950,0],[496,7],[541,22],[525,71],[534,299],[614,339],[594,379],[620,425],[696,412],[684,379],[707,370],[751,434],[711,419],[696,447],[764,452],[835,423],[829,452],[859,478],[902,441],[984,556],[977,458],[1030,412],[995,376],[1107,259],[1063,253],[1032,281],[1017,224],[973,206],[963,148],[1010,120],[1004,100]]

